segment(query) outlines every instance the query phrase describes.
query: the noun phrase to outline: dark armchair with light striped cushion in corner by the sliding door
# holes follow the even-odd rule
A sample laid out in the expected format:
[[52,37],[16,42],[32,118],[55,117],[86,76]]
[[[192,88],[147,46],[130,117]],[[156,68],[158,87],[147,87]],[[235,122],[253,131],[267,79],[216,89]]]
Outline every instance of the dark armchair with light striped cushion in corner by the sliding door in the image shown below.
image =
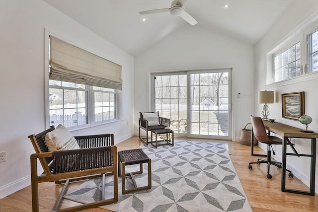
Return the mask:
[[[148,145],[149,131],[168,129],[170,126],[170,119],[159,116],[159,112],[139,112],[139,140]],[[146,131],[146,136],[141,135],[141,130]]]

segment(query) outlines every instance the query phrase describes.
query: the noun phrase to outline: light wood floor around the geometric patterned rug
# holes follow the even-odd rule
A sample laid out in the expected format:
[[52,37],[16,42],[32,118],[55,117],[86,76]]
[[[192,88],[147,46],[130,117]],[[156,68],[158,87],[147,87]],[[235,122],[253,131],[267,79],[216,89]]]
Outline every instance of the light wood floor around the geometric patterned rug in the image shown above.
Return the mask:
[[[175,138],[175,140],[181,140]],[[191,139],[191,141],[194,141]],[[203,140],[201,140],[203,141]],[[212,140],[205,140],[212,141]],[[212,141],[213,142],[213,141]],[[220,142],[220,141],[214,141]],[[271,166],[272,179],[266,178],[266,165],[253,165],[253,169],[247,168],[248,162],[256,161],[256,156],[250,155],[250,147],[241,145],[239,142],[222,141],[229,145],[229,153],[238,173],[249,204],[253,212],[314,212],[318,211],[318,195],[315,197],[281,192],[281,171]],[[118,146],[118,151],[130,148],[137,148],[141,143],[138,137],[123,141]],[[254,148],[255,153],[263,153],[258,146]],[[287,177],[288,178],[288,177]],[[286,179],[286,188],[308,190],[308,187],[301,181],[294,178]],[[71,186],[76,186],[73,183]],[[39,184],[40,211],[50,211],[61,190],[61,185],[54,183]],[[118,188],[121,189],[121,188]],[[62,208],[78,205],[72,201],[64,200]],[[0,212],[31,212],[31,186],[28,186],[14,194],[0,200]],[[95,208],[86,210],[89,212],[108,212],[107,210]]]

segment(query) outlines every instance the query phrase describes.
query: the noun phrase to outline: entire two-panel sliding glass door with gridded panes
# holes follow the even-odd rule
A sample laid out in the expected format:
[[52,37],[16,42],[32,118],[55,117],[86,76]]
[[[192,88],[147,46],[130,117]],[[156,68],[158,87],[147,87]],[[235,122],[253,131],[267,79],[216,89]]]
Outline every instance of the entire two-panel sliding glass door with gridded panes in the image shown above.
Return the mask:
[[156,73],[153,108],[177,136],[232,139],[232,70]]

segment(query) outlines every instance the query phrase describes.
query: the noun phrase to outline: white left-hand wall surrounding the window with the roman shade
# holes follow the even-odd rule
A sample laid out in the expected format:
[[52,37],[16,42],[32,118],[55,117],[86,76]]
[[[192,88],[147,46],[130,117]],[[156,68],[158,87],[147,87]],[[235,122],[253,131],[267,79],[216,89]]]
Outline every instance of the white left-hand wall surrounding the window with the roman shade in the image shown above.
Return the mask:
[[123,120],[73,133],[113,133],[116,143],[134,135],[134,58],[44,1],[0,0],[0,198],[30,185],[27,136],[45,130],[45,28],[122,66]]

